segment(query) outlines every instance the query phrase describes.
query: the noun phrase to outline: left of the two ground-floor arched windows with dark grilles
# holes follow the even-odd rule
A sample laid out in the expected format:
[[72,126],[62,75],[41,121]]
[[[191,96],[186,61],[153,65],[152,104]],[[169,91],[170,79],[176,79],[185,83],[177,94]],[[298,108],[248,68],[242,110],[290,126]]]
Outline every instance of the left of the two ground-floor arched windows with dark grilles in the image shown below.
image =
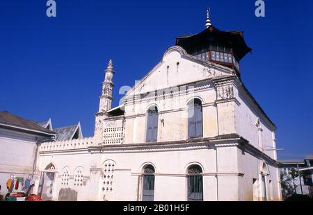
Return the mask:
[[143,171],[143,201],[154,200],[154,167],[145,166]]

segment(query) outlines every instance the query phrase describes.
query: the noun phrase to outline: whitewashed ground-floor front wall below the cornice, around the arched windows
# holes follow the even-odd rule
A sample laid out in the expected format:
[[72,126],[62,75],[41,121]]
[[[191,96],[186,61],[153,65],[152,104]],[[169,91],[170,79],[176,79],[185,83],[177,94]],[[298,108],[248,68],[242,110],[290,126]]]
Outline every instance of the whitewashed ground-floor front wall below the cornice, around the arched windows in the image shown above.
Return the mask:
[[[67,144],[65,142],[65,144]],[[105,150],[105,149],[104,149]],[[134,149],[133,149],[134,150]],[[204,175],[204,200],[241,200],[239,198],[239,178],[236,163],[236,147],[215,148],[188,147],[179,150],[134,150],[133,153],[90,154],[87,150],[80,153],[47,150],[41,153],[40,171],[50,163],[56,166],[54,200],[58,200],[62,188],[77,191],[77,200],[141,200],[143,167],[155,167],[154,200],[187,200],[186,172],[191,164],[202,166]],[[216,159],[217,157],[217,159]],[[225,161],[227,157],[227,161]],[[217,163],[216,163],[217,160]],[[104,164],[115,164],[112,190],[103,190]],[[83,167],[83,186],[74,186],[74,169]],[[91,166],[91,167],[90,167]],[[63,169],[70,172],[70,182],[62,185]],[[171,190],[168,192],[168,190]]]

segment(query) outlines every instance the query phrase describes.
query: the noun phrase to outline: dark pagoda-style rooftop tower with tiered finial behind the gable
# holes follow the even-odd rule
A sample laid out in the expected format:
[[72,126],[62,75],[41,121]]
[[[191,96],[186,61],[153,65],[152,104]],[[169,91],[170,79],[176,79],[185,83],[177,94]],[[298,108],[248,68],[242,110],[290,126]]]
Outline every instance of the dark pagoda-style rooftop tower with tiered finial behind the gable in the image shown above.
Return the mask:
[[242,31],[220,31],[211,24],[207,9],[205,30],[195,35],[176,38],[176,45],[201,60],[230,67],[240,77],[240,60],[252,49],[243,40]]

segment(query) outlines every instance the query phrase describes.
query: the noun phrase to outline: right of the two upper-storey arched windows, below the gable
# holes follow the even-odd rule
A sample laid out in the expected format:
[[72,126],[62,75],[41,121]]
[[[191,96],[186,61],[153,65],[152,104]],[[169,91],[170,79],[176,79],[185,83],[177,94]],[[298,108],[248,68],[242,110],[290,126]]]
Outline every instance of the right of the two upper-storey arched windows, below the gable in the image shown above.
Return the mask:
[[195,98],[188,103],[188,138],[203,137],[202,103]]

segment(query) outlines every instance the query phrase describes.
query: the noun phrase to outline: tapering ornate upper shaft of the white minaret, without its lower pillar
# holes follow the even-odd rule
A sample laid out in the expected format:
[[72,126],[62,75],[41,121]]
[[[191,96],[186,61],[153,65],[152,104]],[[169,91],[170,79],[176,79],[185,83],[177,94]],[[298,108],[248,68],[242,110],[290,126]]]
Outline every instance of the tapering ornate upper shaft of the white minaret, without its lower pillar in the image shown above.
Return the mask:
[[109,61],[109,65],[105,70],[105,78],[102,83],[102,95],[100,96],[99,103],[99,113],[107,112],[111,109],[113,97],[112,97],[112,89],[113,89],[113,78],[114,70],[113,70],[113,62],[112,59]]

